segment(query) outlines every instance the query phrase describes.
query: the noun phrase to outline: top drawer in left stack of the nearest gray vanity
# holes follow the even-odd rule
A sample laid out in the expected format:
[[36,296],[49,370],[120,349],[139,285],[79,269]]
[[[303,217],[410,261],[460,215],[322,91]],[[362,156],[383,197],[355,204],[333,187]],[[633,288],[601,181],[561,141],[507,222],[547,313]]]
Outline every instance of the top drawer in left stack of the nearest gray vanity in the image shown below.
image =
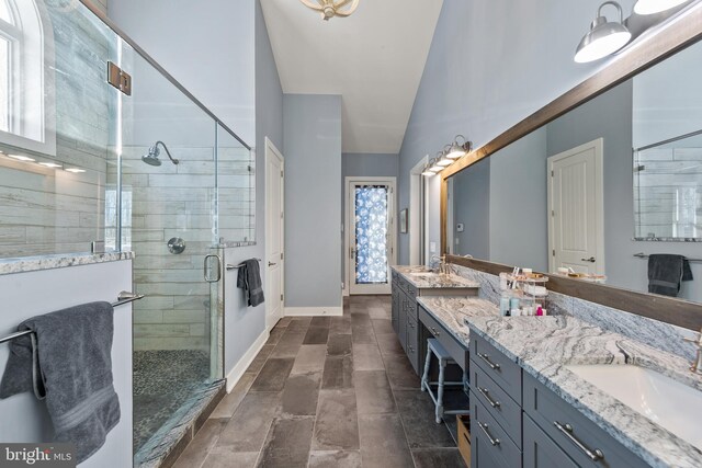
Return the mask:
[[487,341],[471,335],[471,361],[478,365],[518,404],[522,402],[522,368]]

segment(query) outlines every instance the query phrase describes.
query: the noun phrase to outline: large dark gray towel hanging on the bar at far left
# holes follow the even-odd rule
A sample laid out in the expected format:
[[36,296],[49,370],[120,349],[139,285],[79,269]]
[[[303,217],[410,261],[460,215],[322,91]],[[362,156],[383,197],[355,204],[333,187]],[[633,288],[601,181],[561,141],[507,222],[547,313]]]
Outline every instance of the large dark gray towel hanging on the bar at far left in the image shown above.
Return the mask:
[[33,389],[46,401],[56,442],[73,443],[81,463],[120,422],[112,305],[91,303],[33,317],[18,326],[22,330],[34,333],[12,341],[0,398]]

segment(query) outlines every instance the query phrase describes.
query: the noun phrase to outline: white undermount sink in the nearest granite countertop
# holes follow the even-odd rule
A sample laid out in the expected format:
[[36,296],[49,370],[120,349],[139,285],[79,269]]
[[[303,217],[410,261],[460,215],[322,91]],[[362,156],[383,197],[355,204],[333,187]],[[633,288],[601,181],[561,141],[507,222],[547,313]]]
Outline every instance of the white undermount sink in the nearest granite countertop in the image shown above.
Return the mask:
[[566,368],[702,450],[702,391],[634,365]]

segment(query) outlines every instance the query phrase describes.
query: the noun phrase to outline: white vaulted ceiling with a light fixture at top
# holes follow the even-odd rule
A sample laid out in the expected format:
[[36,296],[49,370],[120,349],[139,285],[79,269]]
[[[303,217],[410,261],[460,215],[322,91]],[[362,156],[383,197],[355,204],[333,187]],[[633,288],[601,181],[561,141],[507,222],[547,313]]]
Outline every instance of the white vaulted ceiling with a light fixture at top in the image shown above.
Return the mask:
[[342,96],[343,152],[399,152],[443,0],[361,0],[322,21],[263,0],[284,93]]

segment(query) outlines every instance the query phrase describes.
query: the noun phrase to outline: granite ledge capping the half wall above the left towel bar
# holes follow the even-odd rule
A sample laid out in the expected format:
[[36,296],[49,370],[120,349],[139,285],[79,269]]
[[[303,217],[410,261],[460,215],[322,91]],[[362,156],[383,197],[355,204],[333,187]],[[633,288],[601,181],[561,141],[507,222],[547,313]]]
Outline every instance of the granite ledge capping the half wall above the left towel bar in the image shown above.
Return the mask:
[[134,259],[134,252],[72,253],[0,260],[0,275]]

